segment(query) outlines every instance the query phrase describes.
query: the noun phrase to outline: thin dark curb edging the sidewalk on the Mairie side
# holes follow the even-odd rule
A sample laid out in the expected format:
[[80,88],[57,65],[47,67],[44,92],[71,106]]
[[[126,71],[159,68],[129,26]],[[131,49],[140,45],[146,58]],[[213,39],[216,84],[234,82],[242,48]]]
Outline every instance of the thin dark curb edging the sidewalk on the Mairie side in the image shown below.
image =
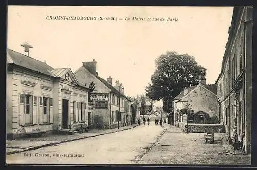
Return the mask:
[[26,148],[25,150],[22,150],[22,151],[7,152],[6,155],[16,154],[16,153],[25,152],[25,151],[31,151],[31,150],[37,150],[38,148],[42,148],[42,147],[53,146],[53,145],[57,145],[57,144],[61,144],[61,143],[72,142],[72,141],[75,141],[75,140],[86,139],[86,138],[96,137],[96,136],[100,136],[100,135],[107,135],[107,134],[111,134],[111,133],[116,133],[116,132],[125,131],[125,130],[128,130],[128,129],[132,129],[132,128],[135,128],[137,126],[138,125],[127,128],[127,129],[116,130],[116,131],[113,131],[113,132],[107,132],[107,133],[97,134],[97,135],[93,135],[93,136],[85,136],[85,137],[76,138],[76,139],[69,139],[69,140],[58,141],[58,142],[54,142],[54,143],[48,143],[48,144],[44,144],[44,145],[40,145],[40,146],[29,147],[29,148]]

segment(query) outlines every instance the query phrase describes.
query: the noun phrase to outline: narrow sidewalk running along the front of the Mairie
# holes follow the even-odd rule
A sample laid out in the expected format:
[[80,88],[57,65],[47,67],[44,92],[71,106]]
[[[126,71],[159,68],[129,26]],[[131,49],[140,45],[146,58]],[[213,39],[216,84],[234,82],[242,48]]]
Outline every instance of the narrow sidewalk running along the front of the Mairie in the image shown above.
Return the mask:
[[90,137],[95,137],[99,135],[105,135],[110,133],[115,133],[119,131],[128,130],[138,126],[138,124],[133,124],[130,126],[120,127],[119,130],[115,129],[92,129],[87,133],[78,133],[74,135],[59,135],[51,134],[47,136],[42,136],[38,138],[24,138],[16,140],[6,140],[6,155],[36,150],[41,147],[57,145],[64,142],[70,142],[79,139],[85,139]]

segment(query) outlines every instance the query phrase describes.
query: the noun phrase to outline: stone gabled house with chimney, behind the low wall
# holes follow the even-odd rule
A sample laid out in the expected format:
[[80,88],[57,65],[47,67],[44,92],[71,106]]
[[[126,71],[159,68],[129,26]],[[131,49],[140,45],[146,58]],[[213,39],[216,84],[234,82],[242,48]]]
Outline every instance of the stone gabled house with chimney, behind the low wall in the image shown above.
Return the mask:
[[[180,122],[182,121],[182,115],[179,115],[178,110],[187,107],[187,100],[189,104],[189,110],[193,110],[193,115],[195,118],[200,113],[206,113],[209,115],[209,118],[218,116],[217,111],[217,86],[215,84],[206,84],[205,79],[201,78],[199,80],[199,84],[196,86],[190,86],[182,93],[177,95],[173,101],[173,109],[174,109],[174,125],[180,126]],[[206,114],[205,115],[206,117]],[[200,118],[200,119],[199,119]],[[197,117],[198,123],[200,122],[209,122],[206,120],[202,120],[201,116]],[[190,122],[194,122],[193,118],[189,118]]]

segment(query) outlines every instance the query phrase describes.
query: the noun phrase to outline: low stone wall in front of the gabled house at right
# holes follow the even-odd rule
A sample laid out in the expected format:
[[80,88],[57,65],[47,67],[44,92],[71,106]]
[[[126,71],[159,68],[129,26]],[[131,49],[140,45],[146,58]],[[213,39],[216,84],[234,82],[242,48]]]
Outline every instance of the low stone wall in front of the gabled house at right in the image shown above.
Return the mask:
[[[188,132],[189,133],[206,133],[206,132],[215,132],[219,133],[221,128],[223,127],[222,124],[195,124],[189,123],[188,124]],[[187,129],[187,124],[182,125],[182,130],[185,132]]]

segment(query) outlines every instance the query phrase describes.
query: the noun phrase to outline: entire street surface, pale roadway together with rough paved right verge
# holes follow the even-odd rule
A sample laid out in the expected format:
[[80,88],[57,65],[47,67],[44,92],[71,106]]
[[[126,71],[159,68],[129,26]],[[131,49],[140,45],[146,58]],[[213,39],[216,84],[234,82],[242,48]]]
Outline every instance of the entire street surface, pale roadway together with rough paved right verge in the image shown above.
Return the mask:
[[[250,155],[227,155],[218,133],[214,134],[214,144],[204,144],[203,134],[186,134],[166,123],[161,127],[151,122],[149,126],[141,124],[130,130],[7,155],[6,160],[13,164],[250,164]],[[60,157],[62,154],[67,157]]]

